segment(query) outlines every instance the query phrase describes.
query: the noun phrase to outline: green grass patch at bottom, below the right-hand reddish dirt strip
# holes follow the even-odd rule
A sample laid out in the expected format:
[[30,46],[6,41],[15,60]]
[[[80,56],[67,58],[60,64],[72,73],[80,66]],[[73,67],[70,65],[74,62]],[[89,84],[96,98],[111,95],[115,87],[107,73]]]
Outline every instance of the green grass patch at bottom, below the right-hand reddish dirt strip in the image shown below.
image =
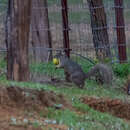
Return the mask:
[[54,119],[58,124],[66,124],[74,130],[128,130],[130,124],[122,119],[113,117],[107,113],[101,113],[93,110],[80,102],[73,103],[73,106],[79,111],[48,109],[47,117]]

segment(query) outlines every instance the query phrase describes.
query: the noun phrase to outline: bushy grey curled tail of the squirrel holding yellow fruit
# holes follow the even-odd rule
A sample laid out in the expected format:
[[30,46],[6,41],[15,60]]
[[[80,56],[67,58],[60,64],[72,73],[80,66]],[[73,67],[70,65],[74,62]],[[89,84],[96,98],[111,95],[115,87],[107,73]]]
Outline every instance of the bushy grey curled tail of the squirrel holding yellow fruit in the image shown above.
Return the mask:
[[91,77],[96,77],[103,84],[111,84],[113,79],[112,69],[105,64],[96,64],[86,73],[87,79]]

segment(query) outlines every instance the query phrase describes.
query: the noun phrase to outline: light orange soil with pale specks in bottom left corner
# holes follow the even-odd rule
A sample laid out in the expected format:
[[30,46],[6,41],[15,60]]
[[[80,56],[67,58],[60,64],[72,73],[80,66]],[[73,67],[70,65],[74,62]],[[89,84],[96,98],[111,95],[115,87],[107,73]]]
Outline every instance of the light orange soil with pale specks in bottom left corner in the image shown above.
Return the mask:
[[[45,111],[44,111],[45,112]],[[0,106],[0,130],[67,130],[68,127],[53,123],[36,112]]]

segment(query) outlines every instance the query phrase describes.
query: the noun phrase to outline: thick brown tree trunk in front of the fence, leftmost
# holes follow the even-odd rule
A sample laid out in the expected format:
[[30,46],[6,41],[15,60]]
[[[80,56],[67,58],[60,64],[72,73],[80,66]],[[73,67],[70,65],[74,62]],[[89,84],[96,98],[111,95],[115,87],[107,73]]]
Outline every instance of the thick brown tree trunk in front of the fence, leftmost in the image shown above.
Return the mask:
[[7,78],[28,81],[31,0],[9,0],[8,2],[6,19]]

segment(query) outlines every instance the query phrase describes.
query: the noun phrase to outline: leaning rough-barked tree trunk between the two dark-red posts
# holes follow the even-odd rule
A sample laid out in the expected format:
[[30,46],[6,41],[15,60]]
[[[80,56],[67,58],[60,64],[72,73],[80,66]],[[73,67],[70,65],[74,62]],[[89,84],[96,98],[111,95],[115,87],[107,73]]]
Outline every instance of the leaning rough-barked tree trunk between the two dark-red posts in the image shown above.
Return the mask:
[[96,55],[100,59],[110,57],[107,20],[102,0],[87,0],[91,15],[91,27]]

